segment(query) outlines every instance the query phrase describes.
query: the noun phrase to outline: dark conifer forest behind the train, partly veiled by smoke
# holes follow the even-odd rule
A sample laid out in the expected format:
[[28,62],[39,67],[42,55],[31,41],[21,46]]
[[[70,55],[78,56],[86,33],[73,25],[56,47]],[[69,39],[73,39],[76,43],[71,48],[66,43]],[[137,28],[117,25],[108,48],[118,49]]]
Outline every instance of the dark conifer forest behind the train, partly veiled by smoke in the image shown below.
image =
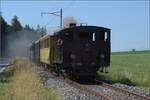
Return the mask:
[[0,57],[27,55],[27,46],[44,36],[47,31],[39,25],[36,28],[29,24],[22,26],[17,16],[12,18],[11,25],[9,25],[0,15],[0,25]]

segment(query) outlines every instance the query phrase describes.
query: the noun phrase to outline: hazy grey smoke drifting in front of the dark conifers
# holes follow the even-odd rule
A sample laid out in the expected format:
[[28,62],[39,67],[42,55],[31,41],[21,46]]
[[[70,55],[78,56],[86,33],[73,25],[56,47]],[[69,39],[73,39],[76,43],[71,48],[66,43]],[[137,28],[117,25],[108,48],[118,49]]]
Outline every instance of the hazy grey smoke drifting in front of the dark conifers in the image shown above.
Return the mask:
[[15,56],[27,57],[29,56],[29,46],[35,41],[33,32],[23,30],[17,32],[17,35],[11,33],[7,37],[7,57],[13,58]]

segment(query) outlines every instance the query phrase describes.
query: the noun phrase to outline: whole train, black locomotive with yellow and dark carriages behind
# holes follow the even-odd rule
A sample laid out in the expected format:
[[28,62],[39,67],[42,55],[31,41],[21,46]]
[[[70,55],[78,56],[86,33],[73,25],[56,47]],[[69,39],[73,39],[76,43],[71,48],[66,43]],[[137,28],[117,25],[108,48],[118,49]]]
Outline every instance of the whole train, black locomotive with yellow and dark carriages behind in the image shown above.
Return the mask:
[[73,79],[94,79],[110,65],[110,29],[76,26],[45,35],[30,46],[30,59]]

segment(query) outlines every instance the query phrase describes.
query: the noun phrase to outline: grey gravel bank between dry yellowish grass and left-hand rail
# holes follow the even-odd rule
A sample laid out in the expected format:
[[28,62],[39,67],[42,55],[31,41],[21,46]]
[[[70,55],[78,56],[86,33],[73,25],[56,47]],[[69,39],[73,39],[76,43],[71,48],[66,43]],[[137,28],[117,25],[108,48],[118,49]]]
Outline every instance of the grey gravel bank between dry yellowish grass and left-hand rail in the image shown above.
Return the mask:
[[62,80],[56,79],[55,76],[44,71],[43,68],[38,68],[38,70],[40,70],[39,74],[44,86],[46,88],[56,89],[62,100],[100,100],[99,97],[80,91]]

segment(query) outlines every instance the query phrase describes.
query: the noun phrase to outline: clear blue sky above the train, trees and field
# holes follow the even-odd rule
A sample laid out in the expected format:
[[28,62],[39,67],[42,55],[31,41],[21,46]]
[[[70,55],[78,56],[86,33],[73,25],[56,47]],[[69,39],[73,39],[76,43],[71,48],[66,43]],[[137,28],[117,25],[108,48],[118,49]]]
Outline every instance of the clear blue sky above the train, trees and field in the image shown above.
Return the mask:
[[112,51],[149,49],[150,1],[1,1],[1,12],[8,23],[17,15],[23,25],[39,24],[49,31],[59,26],[59,17],[41,17],[40,13],[60,8],[63,17],[111,28]]

